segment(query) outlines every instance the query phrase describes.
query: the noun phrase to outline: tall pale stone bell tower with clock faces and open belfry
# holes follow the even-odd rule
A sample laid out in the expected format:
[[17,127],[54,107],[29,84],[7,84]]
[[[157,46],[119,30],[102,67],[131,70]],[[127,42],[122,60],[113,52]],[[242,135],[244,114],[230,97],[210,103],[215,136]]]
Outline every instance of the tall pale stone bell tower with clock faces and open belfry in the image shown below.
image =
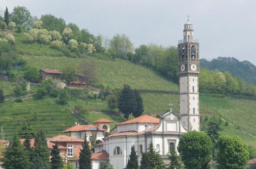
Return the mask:
[[178,42],[179,111],[183,127],[199,131],[199,42],[193,24],[184,24],[183,40]]

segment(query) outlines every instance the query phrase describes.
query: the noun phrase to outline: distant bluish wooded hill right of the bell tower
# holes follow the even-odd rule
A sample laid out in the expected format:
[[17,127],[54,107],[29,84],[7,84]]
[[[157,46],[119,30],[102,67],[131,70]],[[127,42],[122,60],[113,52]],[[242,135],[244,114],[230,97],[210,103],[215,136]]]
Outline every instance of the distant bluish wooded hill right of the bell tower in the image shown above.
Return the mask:
[[211,61],[200,59],[200,66],[211,71],[215,69],[221,72],[228,71],[233,76],[240,76],[244,80],[256,84],[256,66],[249,61],[240,62],[233,57],[218,57]]

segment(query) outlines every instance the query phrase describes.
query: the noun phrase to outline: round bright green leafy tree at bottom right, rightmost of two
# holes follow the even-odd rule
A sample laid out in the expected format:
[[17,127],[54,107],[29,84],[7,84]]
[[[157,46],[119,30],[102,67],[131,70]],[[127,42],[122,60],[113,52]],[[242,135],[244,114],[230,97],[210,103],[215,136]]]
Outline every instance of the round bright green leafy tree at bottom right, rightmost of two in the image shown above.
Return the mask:
[[217,162],[221,169],[245,168],[249,160],[249,152],[241,138],[237,136],[220,136],[217,147]]

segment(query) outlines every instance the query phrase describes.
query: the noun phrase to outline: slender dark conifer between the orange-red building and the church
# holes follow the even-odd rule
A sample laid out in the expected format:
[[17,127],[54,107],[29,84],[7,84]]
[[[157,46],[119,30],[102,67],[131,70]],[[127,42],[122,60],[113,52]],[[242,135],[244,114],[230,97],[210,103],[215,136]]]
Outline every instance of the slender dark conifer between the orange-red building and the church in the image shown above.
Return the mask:
[[79,169],[92,169],[91,166],[91,152],[86,140],[85,134],[85,142],[82,145],[83,149],[81,149],[79,154]]

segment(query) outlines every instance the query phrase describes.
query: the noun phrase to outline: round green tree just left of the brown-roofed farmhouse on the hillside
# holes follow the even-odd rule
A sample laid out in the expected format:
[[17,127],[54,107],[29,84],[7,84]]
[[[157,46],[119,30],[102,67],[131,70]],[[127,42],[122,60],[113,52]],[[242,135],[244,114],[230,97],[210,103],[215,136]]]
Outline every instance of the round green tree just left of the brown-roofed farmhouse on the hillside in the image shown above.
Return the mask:
[[28,65],[24,68],[24,78],[29,82],[38,82],[39,75],[39,69],[34,66]]

